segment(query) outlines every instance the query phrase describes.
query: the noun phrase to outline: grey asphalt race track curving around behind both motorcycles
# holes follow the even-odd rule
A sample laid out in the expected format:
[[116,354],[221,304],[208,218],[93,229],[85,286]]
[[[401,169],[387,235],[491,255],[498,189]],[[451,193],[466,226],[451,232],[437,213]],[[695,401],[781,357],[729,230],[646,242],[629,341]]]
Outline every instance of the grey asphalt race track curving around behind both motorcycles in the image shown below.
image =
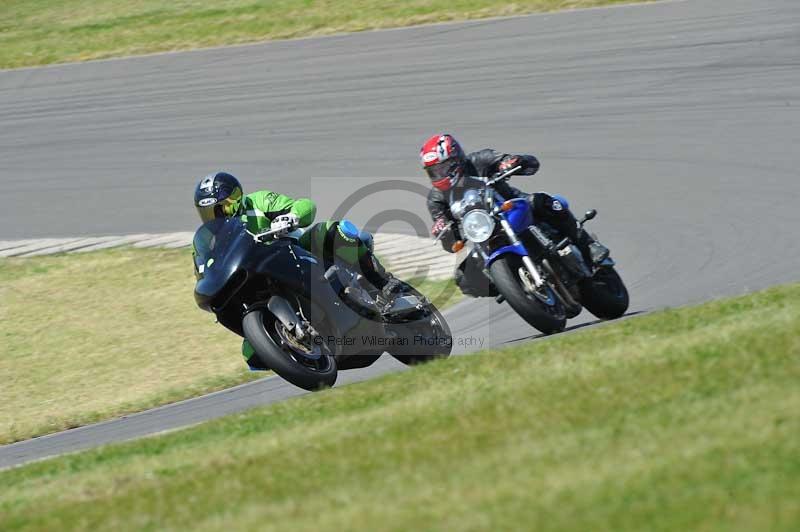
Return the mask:
[[[593,228],[632,312],[800,277],[796,0],[665,2],[6,71],[0,123],[0,239],[192,230],[192,188],[218,168],[338,216],[353,190],[382,182],[372,176],[424,184],[419,145],[448,130],[468,149],[537,154],[541,173],[518,187],[597,208]],[[410,232],[391,222],[425,220],[407,188],[345,210]],[[457,338],[483,341],[461,351],[534,332],[493,301],[448,316]],[[397,367],[384,357],[339,382]],[[0,447],[0,467],[300,393],[265,379]]]

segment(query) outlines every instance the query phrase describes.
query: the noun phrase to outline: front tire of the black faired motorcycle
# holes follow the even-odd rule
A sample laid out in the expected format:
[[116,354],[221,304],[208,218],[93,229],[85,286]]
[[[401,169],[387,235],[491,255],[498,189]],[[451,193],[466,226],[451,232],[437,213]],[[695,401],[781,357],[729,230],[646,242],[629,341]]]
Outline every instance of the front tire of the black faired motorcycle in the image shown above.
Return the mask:
[[304,390],[316,391],[333,386],[338,374],[336,359],[324,343],[314,344],[320,354],[319,367],[305,365],[295,359],[290,349],[281,347],[276,329],[279,323],[267,310],[253,310],[245,315],[242,328],[256,356],[265,366]]

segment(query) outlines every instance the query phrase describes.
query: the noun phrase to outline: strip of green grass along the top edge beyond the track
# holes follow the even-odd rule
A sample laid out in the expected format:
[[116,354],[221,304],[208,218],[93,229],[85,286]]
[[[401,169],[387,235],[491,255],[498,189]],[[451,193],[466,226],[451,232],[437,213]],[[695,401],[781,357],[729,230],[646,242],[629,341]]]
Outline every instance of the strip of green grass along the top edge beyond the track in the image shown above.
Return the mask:
[[4,0],[0,68],[631,0]]

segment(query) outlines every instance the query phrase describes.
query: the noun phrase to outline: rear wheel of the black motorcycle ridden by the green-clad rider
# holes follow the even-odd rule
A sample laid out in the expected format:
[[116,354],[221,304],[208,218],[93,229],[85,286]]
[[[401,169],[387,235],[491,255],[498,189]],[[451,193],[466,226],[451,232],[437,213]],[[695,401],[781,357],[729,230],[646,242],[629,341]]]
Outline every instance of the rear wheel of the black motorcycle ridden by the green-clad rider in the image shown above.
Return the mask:
[[[408,283],[403,283],[402,292],[424,298],[416,288]],[[425,312],[414,321],[392,324],[389,328],[398,335],[405,335],[412,339],[411,345],[409,345],[407,349],[398,348],[391,352],[394,358],[406,366],[414,366],[440,358],[448,358],[453,351],[453,336],[450,333],[450,326],[433,303],[429,303],[425,308]],[[424,346],[415,346],[413,343],[414,336],[435,340],[433,340],[431,344],[426,343]],[[412,352],[414,350],[424,351],[424,353],[414,353]]]

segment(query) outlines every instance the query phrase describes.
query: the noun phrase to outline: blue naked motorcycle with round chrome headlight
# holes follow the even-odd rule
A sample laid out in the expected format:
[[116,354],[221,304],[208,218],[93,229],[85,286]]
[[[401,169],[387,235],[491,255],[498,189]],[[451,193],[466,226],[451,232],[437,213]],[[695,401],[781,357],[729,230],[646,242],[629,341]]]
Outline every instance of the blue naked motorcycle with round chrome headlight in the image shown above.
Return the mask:
[[[454,244],[454,251],[461,254],[456,267],[459,286],[468,295],[507,301],[545,334],[562,331],[567,319],[583,308],[601,319],[625,314],[628,291],[611,257],[588,263],[575,242],[534,220],[528,198],[503,198],[495,190],[519,170],[476,178],[483,181],[482,188],[470,188],[450,202],[466,240]],[[568,207],[566,199],[557,199]],[[580,220],[579,238],[588,236],[583,226],[596,215],[590,210]]]

